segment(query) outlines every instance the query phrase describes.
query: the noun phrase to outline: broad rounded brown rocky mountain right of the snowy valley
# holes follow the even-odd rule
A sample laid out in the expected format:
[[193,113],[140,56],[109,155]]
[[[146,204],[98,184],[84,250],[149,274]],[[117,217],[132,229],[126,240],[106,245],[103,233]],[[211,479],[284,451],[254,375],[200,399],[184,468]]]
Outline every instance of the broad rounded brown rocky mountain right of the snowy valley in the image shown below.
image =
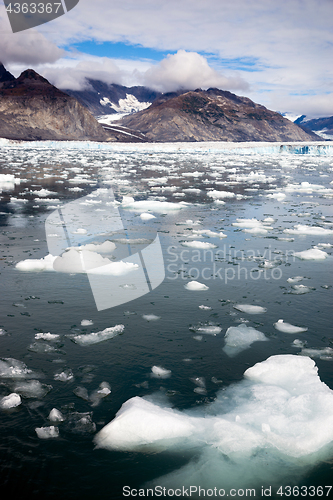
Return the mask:
[[118,123],[161,142],[320,140],[279,113],[219,89],[161,96]]

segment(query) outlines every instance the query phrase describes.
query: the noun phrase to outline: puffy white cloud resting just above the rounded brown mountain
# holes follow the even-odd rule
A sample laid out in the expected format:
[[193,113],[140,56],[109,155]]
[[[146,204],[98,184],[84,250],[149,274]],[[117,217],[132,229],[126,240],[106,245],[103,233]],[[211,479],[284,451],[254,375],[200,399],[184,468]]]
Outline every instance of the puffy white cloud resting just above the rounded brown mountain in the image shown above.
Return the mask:
[[246,89],[248,84],[240,77],[225,77],[208,65],[207,59],[196,52],[178,50],[168,55],[143,75],[147,87],[162,92],[178,89],[218,87],[223,89]]

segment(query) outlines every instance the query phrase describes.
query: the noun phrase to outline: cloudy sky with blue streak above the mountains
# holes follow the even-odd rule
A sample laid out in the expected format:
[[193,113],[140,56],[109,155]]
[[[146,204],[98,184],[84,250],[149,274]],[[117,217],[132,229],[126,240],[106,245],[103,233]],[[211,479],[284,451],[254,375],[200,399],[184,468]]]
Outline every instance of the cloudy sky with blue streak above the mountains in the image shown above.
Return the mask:
[[0,0],[0,61],[62,89],[87,78],[218,87],[274,111],[332,116],[333,0],[80,0],[20,33]]

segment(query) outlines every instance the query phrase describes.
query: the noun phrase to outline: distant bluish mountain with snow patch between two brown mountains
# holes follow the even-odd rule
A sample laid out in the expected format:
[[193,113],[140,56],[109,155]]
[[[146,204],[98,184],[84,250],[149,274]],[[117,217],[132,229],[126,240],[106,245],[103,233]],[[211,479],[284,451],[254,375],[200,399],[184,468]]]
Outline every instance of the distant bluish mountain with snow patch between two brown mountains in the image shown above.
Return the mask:
[[[86,106],[94,116],[117,113],[117,106],[121,99],[126,99],[127,96],[133,96],[133,101],[139,103],[152,103],[161,95],[160,92],[148,89],[147,87],[125,87],[123,85],[107,84],[100,80],[87,79],[86,90],[70,90],[62,89],[66,94],[75,97],[81,104]],[[115,107],[112,107],[115,105]],[[133,103],[133,111],[135,103]]]

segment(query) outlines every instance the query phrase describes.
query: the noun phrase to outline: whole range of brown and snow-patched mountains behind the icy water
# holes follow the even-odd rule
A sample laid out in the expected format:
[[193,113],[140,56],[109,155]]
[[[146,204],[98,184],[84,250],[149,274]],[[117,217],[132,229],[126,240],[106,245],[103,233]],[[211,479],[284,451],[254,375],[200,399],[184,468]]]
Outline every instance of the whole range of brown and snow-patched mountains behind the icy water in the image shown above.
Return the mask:
[[279,113],[219,89],[161,94],[91,79],[87,85],[82,91],[59,90],[32,69],[15,78],[0,63],[0,137],[121,142],[321,139]]

